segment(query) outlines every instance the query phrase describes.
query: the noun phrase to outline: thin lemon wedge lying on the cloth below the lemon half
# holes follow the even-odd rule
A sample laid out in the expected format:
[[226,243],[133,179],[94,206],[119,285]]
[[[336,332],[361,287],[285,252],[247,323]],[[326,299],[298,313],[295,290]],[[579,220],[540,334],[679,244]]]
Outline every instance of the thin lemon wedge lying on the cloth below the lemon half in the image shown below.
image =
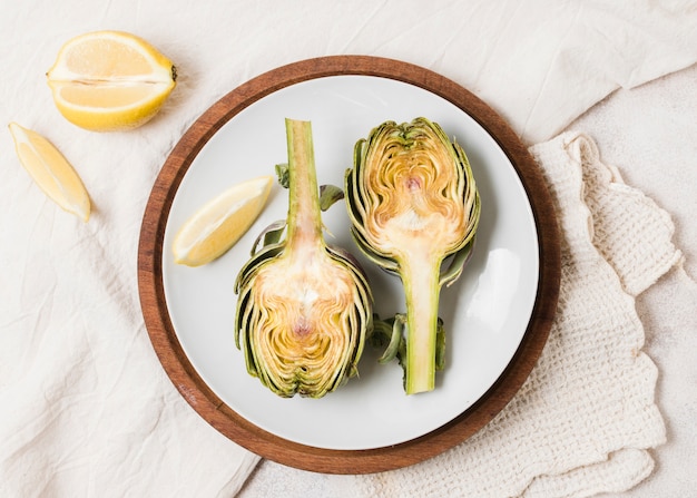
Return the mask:
[[41,189],[60,207],[89,219],[89,195],[63,155],[38,133],[10,123],[10,134],[20,163]]

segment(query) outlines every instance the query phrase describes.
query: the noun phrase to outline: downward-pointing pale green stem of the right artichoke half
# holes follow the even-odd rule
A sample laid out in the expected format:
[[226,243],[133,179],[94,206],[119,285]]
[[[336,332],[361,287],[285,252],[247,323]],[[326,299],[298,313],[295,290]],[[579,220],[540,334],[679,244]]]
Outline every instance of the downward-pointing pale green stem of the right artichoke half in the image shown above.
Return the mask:
[[406,299],[404,389],[408,394],[415,394],[432,391],[435,387],[440,265],[412,255],[401,266]]

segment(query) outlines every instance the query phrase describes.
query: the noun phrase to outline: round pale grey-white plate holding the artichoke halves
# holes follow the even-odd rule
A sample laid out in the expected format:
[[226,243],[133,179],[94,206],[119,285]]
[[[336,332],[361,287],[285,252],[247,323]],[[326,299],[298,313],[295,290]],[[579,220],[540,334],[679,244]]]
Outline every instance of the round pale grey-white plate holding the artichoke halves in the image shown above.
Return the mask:
[[[284,118],[311,120],[321,184],[343,185],[353,145],[380,123],[425,116],[464,148],[482,199],[475,253],[462,277],[441,292],[448,330],[446,368],[436,389],[408,397],[402,371],[377,365],[366,351],[360,378],[320,400],[282,399],[247,374],[235,346],[234,282],[256,235],[287,212],[287,191],[276,185],[247,234],[219,260],[202,267],[176,265],[174,234],[202,204],[242,180],[273,174],[287,160]],[[348,235],[343,205],[325,213],[332,242],[364,263],[375,311],[403,312],[399,279],[361,257]],[[196,156],[171,205],[163,250],[163,282],[171,323],[200,378],[227,406],[255,426],[316,448],[362,450],[426,434],[458,417],[495,382],[520,344],[538,289],[538,237],[530,203],[497,141],[448,100],[401,81],[332,76],[277,90],[235,115]]]

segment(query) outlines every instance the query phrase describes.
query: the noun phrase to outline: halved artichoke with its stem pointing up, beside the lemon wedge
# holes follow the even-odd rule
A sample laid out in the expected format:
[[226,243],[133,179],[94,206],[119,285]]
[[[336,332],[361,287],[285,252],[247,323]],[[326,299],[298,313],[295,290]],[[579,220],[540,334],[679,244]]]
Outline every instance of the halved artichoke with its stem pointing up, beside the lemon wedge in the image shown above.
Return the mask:
[[273,392],[321,398],[356,374],[372,295],[357,262],[324,240],[311,123],[285,124],[287,219],[239,271],[235,340]]

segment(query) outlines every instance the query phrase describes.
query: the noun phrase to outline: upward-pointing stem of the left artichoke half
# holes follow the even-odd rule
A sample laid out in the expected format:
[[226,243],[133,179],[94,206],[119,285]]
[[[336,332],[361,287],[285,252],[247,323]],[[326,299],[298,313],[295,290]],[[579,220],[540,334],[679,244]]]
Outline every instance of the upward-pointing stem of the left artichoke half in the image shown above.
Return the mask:
[[286,119],[288,147],[289,205],[288,252],[324,243],[315,156],[310,121]]

